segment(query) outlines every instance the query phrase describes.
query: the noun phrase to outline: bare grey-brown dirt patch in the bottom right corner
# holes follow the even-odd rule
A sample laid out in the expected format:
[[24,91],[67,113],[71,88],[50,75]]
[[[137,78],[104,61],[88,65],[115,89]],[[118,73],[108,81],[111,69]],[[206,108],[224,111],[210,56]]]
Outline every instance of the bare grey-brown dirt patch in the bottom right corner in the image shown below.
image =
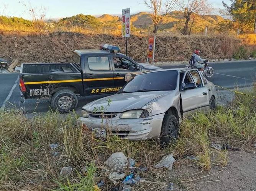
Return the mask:
[[[191,161],[184,159],[176,165],[171,177],[181,179],[175,189],[198,191],[256,190],[256,155],[245,151],[228,152],[228,165],[225,168],[212,166],[208,172],[200,172]],[[175,190],[174,189],[174,190]]]

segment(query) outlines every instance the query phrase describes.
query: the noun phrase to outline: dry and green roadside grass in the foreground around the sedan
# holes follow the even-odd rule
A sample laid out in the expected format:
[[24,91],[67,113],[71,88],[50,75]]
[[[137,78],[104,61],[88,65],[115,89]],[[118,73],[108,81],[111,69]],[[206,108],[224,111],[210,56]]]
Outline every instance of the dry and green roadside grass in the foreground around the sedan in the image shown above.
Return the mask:
[[[253,92],[256,95],[255,92]],[[136,189],[162,190],[169,179],[165,169],[154,169],[164,155],[174,153],[179,162],[185,155],[198,158],[190,165],[211,171],[213,165],[228,165],[228,152],[217,151],[210,143],[218,141],[243,147],[253,145],[256,139],[255,100],[237,95],[230,108],[218,108],[210,115],[198,113],[185,120],[177,143],[161,149],[157,141],[126,141],[116,136],[95,139],[87,128],[76,125],[76,115],[60,116],[56,112],[27,119],[21,111],[0,112],[0,189],[1,190],[93,190],[101,180],[103,190],[113,188],[104,173],[104,162],[114,152],[123,152],[148,172],[137,172],[147,182],[135,185]],[[58,143],[53,150],[49,144]],[[57,156],[53,152],[58,152]],[[83,167],[87,166],[87,172]],[[61,178],[62,167],[74,170],[69,178]],[[175,168],[175,167],[174,167]],[[126,173],[130,173],[127,168]],[[120,182],[121,183],[121,182]],[[121,186],[121,184],[118,186]]]

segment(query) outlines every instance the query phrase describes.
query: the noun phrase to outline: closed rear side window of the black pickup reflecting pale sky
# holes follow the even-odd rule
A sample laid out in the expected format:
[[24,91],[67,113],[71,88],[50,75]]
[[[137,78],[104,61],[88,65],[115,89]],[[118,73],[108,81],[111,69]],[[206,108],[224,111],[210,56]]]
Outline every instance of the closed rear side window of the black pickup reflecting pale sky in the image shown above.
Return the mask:
[[108,57],[88,57],[90,70],[110,70]]

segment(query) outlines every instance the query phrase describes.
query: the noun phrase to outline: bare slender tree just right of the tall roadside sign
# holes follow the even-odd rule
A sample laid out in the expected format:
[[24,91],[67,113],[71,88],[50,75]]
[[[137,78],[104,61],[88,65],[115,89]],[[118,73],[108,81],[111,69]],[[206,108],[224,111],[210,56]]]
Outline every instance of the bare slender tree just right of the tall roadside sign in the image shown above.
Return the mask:
[[[154,34],[158,31],[158,24],[161,19],[176,8],[178,2],[179,0],[166,0],[164,3],[162,0],[144,0],[145,5],[153,12],[151,14],[151,19],[154,24]],[[164,6],[164,9],[162,9],[162,5]]]

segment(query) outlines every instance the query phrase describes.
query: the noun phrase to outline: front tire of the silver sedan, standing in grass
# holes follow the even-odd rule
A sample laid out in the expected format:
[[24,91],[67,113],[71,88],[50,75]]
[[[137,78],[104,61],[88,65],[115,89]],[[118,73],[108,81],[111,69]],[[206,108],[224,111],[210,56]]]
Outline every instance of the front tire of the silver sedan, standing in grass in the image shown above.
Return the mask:
[[160,135],[160,145],[168,146],[170,143],[175,143],[179,135],[179,122],[175,115],[166,114],[162,123]]

